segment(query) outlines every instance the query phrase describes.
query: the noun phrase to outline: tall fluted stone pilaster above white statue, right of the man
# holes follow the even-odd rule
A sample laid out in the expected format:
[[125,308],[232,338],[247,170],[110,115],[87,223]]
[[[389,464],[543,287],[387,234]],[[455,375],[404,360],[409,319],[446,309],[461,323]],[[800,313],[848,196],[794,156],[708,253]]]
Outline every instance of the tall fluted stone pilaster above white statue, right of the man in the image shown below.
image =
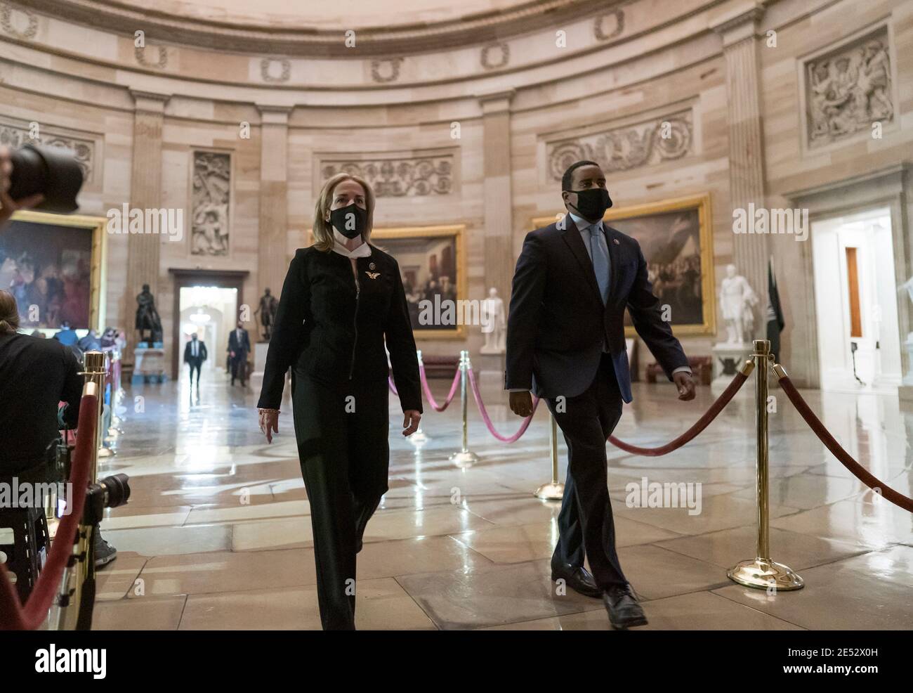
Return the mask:
[[[729,196],[732,209],[762,208],[764,162],[761,144],[758,21],[763,8],[752,5],[738,15],[722,18],[713,28],[723,39],[726,59],[726,92],[729,103]],[[731,210],[730,210],[731,211]],[[770,241],[766,235],[733,234],[733,262],[758,294],[754,336],[763,336],[767,325],[767,261]]]

